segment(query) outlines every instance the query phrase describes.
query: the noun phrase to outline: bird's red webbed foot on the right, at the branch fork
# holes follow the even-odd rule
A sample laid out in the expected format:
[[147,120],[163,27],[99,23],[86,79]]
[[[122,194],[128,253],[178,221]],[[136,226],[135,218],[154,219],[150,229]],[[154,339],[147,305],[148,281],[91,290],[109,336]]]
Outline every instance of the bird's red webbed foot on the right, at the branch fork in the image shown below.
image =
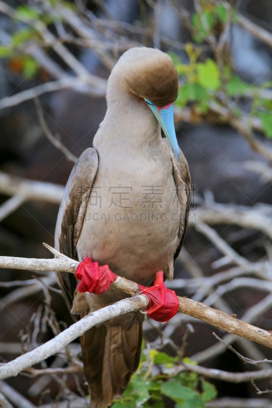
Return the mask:
[[179,309],[179,300],[174,290],[164,285],[163,272],[157,272],[154,285],[150,287],[139,285],[140,293],[149,298],[146,313],[158,322],[167,322],[175,316]]

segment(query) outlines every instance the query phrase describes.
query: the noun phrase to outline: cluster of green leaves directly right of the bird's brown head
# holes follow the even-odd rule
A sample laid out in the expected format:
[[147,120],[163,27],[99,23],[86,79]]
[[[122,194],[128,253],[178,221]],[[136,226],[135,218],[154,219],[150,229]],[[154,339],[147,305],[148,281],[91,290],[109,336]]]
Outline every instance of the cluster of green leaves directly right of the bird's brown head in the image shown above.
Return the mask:
[[234,73],[228,61],[225,60],[225,65],[219,69],[216,61],[211,58],[199,61],[202,50],[198,46],[186,44],[185,50],[189,63],[183,63],[176,55],[171,55],[181,79],[176,104],[180,108],[190,104],[195,113],[206,114],[212,103],[220,108],[221,96],[225,94],[229,100],[231,114],[240,118],[243,112],[238,101],[246,95],[251,95],[252,108],[250,115],[247,115],[249,127],[251,117],[257,116],[265,136],[272,138],[272,101],[260,96],[261,90],[272,88],[271,82],[265,82],[259,87],[253,86]]

